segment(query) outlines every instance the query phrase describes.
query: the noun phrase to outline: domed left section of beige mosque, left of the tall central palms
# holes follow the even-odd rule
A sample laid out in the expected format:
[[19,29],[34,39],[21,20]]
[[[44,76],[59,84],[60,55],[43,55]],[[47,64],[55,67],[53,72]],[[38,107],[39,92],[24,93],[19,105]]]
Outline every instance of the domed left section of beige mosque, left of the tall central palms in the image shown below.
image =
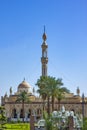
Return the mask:
[[24,103],[24,121],[29,121],[31,114],[41,116],[42,104],[40,98],[34,96],[30,92],[31,86],[25,80],[23,80],[17,87],[17,92],[12,94],[10,88],[10,95],[5,94],[1,98],[1,104],[5,107],[5,114],[10,120],[20,120],[23,118],[22,102],[17,102],[18,95],[25,91],[29,97],[30,102]]

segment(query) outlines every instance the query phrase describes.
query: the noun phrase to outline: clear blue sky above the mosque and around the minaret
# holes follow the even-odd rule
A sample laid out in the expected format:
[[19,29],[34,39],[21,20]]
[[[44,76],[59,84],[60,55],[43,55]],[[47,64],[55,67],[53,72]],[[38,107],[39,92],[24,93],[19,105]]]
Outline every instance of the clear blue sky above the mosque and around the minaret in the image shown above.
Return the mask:
[[0,0],[0,96],[41,75],[43,26],[48,75],[87,96],[87,0]]

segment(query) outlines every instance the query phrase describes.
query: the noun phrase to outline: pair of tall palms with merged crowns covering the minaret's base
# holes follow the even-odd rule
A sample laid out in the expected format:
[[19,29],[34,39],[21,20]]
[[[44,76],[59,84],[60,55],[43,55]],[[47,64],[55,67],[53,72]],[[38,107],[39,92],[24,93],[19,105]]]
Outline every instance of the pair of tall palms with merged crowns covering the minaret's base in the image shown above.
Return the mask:
[[[52,97],[52,111],[54,110],[54,99],[56,96],[57,89],[63,85],[62,79],[56,79],[51,76],[41,76],[37,80],[36,85],[38,85],[38,92],[42,96],[43,100],[48,99],[48,113],[50,113],[50,97]],[[45,97],[45,98],[44,98]]]

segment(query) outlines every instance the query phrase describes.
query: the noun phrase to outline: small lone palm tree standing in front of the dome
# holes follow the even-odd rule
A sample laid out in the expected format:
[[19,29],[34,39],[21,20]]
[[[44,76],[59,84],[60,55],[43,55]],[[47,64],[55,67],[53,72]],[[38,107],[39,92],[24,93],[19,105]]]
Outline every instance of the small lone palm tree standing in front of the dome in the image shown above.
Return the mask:
[[24,103],[29,102],[29,96],[27,95],[27,92],[23,91],[21,92],[18,97],[16,102],[22,102],[22,117],[23,117],[23,122],[24,122]]

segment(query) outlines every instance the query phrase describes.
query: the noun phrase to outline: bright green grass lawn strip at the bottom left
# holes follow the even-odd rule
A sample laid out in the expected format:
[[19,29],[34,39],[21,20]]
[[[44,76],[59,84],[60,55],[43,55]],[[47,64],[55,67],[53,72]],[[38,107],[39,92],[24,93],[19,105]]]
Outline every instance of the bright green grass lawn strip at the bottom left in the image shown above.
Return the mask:
[[4,127],[6,127],[6,130],[30,130],[29,123],[5,124]]

